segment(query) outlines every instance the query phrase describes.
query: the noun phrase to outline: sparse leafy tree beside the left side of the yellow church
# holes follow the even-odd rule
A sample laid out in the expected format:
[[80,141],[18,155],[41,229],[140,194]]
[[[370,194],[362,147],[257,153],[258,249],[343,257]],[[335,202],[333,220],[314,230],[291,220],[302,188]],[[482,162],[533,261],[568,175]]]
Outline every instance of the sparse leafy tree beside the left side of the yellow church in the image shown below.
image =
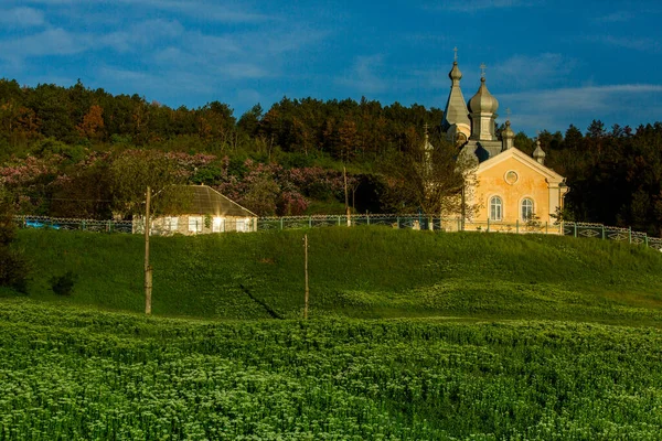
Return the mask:
[[383,202],[396,212],[428,215],[451,215],[471,212],[462,192],[473,181],[476,165],[469,155],[458,154],[456,148],[436,138],[436,147],[409,146],[385,161],[386,186]]

